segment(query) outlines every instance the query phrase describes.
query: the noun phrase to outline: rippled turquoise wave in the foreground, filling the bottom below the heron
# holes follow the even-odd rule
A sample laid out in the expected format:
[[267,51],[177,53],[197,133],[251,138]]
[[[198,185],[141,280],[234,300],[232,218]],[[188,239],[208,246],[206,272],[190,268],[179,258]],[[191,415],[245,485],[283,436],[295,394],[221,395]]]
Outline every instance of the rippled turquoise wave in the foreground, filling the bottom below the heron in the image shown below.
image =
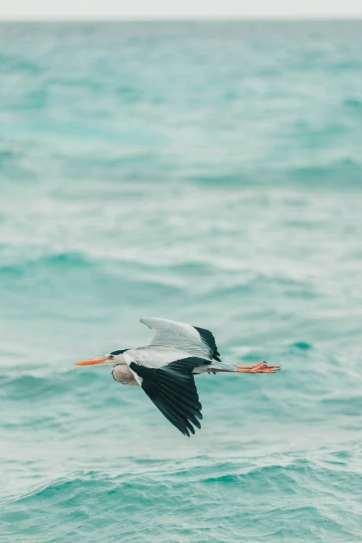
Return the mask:
[[[70,472],[44,481],[3,501],[0,515],[16,522],[22,534],[42,533],[46,519],[52,542],[74,541],[86,533],[88,542],[99,537],[139,541],[142,535],[146,541],[174,543],[183,529],[198,543],[205,542],[208,531],[207,541],[213,543],[216,533],[222,543],[245,534],[249,541],[261,541],[261,534],[275,541],[325,541],[327,527],[336,541],[359,537],[356,500],[353,494],[343,500],[355,487],[355,474],[344,466],[328,469],[293,460],[245,467],[240,460],[223,463],[209,457],[201,465],[181,466],[181,472],[180,465],[148,461],[137,473],[127,459],[119,463],[126,469],[120,467],[117,474]],[[348,529],[345,515],[351,521]]]

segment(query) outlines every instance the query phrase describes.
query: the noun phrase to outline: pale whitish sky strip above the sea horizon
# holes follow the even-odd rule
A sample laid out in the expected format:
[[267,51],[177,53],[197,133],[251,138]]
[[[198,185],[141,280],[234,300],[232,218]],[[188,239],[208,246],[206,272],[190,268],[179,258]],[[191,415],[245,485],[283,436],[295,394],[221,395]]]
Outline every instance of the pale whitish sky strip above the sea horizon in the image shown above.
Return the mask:
[[362,17],[362,0],[0,0],[0,19]]

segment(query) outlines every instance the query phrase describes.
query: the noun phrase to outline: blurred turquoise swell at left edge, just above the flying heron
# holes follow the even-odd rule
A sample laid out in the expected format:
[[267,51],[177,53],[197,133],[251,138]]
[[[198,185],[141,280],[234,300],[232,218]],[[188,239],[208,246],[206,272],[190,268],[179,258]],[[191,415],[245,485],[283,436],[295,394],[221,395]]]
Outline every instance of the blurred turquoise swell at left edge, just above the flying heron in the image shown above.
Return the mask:
[[[48,309],[54,309],[55,300],[62,297],[84,300],[82,293],[86,298],[102,298],[104,304],[112,302],[114,296],[131,296],[139,303],[180,293],[180,284],[157,274],[157,269],[153,273],[150,270],[152,266],[141,263],[62,252],[3,264],[0,279],[7,288],[4,295],[11,291],[19,294],[24,289],[30,299],[37,298],[37,306],[48,303]],[[50,307],[46,298],[52,300]]]

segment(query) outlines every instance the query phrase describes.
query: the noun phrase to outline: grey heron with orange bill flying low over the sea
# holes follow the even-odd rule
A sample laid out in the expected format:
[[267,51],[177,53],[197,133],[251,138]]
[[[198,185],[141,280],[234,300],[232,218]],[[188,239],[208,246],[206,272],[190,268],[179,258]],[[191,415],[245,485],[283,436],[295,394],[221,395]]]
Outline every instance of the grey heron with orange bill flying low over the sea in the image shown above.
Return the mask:
[[154,332],[146,347],[119,349],[74,365],[112,364],[112,376],[123,385],[140,386],[184,436],[195,434],[202,420],[194,377],[208,372],[275,373],[277,365],[225,363],[211,331],[165,318],[141,318]]

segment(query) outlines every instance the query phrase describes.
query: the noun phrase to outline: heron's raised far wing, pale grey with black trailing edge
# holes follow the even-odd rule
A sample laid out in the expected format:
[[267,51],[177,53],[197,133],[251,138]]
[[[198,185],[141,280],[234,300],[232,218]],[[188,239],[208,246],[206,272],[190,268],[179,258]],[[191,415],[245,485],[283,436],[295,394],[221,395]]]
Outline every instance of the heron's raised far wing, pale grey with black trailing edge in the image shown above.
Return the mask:
[[220,354],[211,331],[165,318],[141,318],[140,320],[155,332],[150,345],[182,350],[190,356],[204,356],[220,361]]

